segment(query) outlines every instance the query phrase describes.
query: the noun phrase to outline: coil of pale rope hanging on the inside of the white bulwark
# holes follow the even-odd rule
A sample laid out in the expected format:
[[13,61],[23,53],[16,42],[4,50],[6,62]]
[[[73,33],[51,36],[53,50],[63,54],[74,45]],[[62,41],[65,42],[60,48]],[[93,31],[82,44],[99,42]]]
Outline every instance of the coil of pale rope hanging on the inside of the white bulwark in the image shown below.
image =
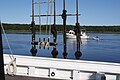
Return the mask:
[[7,74],[13,76],[16,74],[16,72],[17,72],[16,59],[14,59],[8,64]]

